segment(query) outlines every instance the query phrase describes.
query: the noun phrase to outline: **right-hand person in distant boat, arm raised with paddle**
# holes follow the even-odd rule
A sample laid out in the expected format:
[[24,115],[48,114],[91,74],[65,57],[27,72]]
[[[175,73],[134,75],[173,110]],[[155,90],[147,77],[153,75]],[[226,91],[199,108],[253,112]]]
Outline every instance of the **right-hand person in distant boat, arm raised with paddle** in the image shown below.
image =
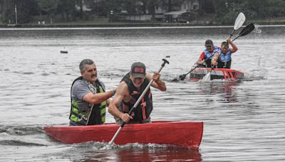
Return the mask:
[[[229,44],[232,45],[232,48],[229,48]],[[237,45],[235,45],[231,38],[228,38],[227,41],[222,42],[220,47],[220,53],[216,53],[212,58],[212,65],[217,66],[217,68],[227,68],[230,69],[232,65],[232,53],[237,52]]]

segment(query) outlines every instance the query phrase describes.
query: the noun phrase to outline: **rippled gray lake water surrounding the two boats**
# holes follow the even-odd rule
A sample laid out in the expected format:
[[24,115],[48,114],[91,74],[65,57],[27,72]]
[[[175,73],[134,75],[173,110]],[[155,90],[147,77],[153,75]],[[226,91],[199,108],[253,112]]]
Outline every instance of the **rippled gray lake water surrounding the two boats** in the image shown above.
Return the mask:
[[[232,69],[245,73],[239,82],[172,82],[190,70],[204,41],[220,45],[232,26],[1,29],[0,161],[285,161],[285,26],[256,27],[235,41]],[[68,54],[60,53],[64,47]],[[153,72],[166,56],[170,65],[161,78],[167,91],[152,90],[152,120],[204,121],[198,151],[62,144],[44,133],[43,126],[68,124],[70,87],[81,60],[95,61],[110,90],[132,63]]]

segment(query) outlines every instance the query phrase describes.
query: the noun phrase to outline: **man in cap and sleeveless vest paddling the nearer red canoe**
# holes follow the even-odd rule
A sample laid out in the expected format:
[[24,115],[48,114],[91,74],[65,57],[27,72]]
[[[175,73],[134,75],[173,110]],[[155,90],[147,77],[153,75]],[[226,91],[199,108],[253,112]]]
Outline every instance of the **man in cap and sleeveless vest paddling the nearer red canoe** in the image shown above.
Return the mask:
[[150,89],[142,97],[138,107],[135,107],[133,114],[128,114],[150,80],[154,80],[152,87],[161,91],[166,90],[165,82],[160,80],[160,73],[154,72],[153,75],[150,75],[145,72],[143,63],[133,63],[130,72],[123,77],[118,85],[117,92],[108,107],[108,111],[113,114],[117,124],[123,124],[123,122],[150,123],[150,113],[152,112],[152,93]]

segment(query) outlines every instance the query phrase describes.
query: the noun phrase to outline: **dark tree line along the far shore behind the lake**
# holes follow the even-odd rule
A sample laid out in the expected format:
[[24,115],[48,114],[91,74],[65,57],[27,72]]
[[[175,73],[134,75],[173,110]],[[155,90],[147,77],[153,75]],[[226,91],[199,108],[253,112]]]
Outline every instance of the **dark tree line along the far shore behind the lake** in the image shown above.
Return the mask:
[[[3,23],[34,23],[88,21],[94,17],[108,18],[113,11],[114,21],[123,21],[125,14],[152,15],[155,9],[175,11],[187,1],[195,0],[0,0]],[[248,19],[278,18],[285,15],[285,0],[197,0],[197,16],[212,14],[219,24],[232,23],[239,12]]]

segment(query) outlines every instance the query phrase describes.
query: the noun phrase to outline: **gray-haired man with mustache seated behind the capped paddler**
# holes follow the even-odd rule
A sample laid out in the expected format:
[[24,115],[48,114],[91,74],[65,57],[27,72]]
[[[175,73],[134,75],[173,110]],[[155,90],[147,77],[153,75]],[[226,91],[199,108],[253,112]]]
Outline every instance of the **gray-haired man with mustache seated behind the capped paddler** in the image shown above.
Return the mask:
[[82,60],[79,65],[81,77],[71,85],[70,126],[95,125],[105,123],[106,106],[116,89],[105,92],[105,85],[98,80],[97,68],[93,60]]

